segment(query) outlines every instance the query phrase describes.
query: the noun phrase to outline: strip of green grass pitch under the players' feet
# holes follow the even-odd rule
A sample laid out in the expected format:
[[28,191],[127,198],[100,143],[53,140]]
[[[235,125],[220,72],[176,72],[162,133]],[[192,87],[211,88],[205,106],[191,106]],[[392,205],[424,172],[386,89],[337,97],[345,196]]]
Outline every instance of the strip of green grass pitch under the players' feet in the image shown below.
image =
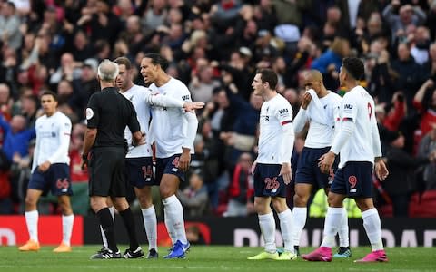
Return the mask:
[[[124,247],[120,247],[124,248]],[[18,252],[16,247],[0,247],[0,271],[82,272],[82,271],[435,271],[436,248],[387,248],[389,263],[356,264],[370,248],[352,248],[352,258],[333,259],[332,263],[313,263],[298,258],[294,261],[248,261],[246,257],[263,248],[192,247],[186,259],[160,258],[90,260],[98,246],[75,247],[72,253],[54,254],[53,247],[39,252]],[[307,253],[312,248],[302,248]]]

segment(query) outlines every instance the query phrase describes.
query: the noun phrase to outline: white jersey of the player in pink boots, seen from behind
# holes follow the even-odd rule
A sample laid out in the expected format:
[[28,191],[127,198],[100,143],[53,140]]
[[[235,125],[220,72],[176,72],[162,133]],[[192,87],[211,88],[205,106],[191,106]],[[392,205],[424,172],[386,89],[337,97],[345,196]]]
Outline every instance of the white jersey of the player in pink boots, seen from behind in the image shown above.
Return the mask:
[[380,155],[374,154],[372,148],[380,145],[380,138],[373,139],[373,130],[378,131],[374,109],[372,96],[362,86],[352,88],[343,96],[339,115],[340,122],[352,121],[355,128],[340,151],[340,168],[347,161],[370,161],[373,163],[374,157]]

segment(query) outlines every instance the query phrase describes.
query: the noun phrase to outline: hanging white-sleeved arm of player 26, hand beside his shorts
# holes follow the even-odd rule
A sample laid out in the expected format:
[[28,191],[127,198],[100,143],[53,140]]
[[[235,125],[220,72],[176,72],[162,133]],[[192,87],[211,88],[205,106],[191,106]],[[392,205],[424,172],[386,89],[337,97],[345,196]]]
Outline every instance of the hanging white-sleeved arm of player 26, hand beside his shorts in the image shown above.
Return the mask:
[[293,143],[295,134],[292,127],[292,107],[289,102],[283,104],[275,112],[275,116],[280,121],[282,127],[282,141],[279,146],[279,163],[282,164],[280,175],[283,176],[285,184],[289,184],[292,180],[291,156],[293,151]]

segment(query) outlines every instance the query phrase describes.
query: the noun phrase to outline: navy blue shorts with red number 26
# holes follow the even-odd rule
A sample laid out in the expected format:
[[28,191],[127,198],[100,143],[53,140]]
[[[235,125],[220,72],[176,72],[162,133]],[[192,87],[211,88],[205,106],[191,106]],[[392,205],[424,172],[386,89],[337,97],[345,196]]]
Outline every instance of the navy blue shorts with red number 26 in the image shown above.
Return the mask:
[[279,177],[281,164],[257,163],[254,169],[254,196],[286,198],[286,184]]

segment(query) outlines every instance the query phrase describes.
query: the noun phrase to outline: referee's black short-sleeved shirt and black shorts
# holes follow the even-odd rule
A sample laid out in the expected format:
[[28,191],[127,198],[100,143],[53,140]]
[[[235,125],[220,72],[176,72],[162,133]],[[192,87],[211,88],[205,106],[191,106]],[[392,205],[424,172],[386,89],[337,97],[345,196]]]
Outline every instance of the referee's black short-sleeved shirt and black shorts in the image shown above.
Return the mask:
[[141,131],[134,105],[118,88],[95,92],[86,109],[88,129],[97,129],[89,160],[89,195],[124,197],[124,129]]

